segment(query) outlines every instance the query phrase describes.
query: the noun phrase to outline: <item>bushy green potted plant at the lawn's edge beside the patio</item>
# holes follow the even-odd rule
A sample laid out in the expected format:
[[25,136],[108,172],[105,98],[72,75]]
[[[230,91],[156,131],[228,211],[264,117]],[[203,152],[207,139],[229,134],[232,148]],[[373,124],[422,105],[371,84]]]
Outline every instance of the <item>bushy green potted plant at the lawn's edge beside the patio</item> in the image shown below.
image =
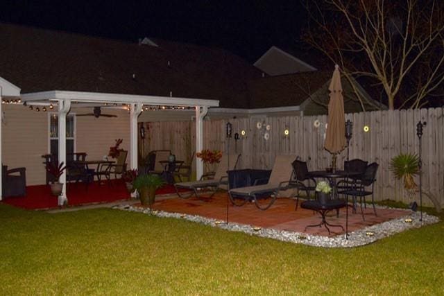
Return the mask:
[[140,202],[142,204],[151,204],[155,202],[155,191],[164,184],[164,180],[160,175],[142,174],[138,175],[133,182],[133,190],[139,193]]

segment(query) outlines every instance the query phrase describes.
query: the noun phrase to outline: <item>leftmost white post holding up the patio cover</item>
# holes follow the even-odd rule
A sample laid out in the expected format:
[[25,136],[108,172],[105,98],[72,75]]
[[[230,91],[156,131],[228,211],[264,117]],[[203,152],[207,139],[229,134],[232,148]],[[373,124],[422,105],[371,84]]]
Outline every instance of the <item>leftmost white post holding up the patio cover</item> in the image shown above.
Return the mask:
[[[62,162],[67,165],[67,114],[71,109],[70,100],[58,101],[58,164]],[[63,184],[62,194],[58,197],[58,205],[67,202],[67,174],[66,170],[60,176],[60,183]]]

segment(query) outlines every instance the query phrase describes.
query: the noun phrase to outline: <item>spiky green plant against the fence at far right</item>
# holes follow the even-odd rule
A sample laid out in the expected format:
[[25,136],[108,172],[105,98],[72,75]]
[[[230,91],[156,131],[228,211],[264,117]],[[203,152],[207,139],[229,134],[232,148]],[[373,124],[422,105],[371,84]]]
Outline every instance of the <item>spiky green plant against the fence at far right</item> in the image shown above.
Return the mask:
[[419,157],[416,154],[401,153],[391,159],[390,171],[398,180],[404,180],[405,189],[416,190],[416,185],[413,177],[419,174]]

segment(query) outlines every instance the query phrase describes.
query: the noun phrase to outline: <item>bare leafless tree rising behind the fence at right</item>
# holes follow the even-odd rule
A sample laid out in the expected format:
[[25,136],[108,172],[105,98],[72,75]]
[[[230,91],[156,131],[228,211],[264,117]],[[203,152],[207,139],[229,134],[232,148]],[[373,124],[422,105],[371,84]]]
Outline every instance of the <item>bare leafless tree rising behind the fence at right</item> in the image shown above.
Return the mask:
[[350,83],[373,81],[391,110],[421,107],[442,91],[444,1],[304,1],[305,41],[339,64]]

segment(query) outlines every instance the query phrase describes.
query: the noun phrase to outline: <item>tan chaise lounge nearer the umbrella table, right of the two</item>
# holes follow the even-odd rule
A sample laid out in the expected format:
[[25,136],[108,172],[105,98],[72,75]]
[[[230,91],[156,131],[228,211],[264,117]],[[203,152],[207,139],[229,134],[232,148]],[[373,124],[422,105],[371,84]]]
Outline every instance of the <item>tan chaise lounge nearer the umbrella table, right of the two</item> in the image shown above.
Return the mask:
[[[270,178],[267,184],[247,186],[230,189],[228,194],[232,204],[240,207],[248,200],[254,200],[258,209],[266,210],[275,202],[279,191],[291,189],[289,185],[291,177],[293,176],[293,166],[291,163],[296,159],[296,155],[278,155],[275,158],[275,164],[271,171]],[[263,196],[270,196],[271,200],[266,206],[262,206],[258,202],[258,198]]]

